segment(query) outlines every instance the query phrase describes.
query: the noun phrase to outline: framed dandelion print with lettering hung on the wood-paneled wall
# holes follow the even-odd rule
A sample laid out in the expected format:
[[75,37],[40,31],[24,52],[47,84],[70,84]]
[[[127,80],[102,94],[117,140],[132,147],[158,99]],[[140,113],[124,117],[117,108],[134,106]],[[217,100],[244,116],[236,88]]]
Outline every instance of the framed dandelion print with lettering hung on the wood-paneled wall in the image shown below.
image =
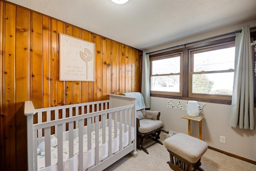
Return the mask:
[[60,81],[94,81],[95,44],[60,33]]

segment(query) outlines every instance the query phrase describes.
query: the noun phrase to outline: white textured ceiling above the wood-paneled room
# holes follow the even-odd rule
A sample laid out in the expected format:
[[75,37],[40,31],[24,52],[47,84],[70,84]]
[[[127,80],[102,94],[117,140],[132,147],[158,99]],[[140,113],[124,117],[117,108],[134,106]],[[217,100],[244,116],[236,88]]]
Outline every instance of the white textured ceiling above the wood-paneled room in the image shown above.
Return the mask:
[[256,19],[256,0],[8,0],[146,50]]

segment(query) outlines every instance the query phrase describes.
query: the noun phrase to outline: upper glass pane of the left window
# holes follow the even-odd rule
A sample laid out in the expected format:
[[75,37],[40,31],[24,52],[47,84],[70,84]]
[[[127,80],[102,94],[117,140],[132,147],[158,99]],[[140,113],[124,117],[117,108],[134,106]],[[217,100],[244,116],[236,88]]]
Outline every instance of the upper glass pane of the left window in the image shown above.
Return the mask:
[[152,61],[152,75],[180,73],[180,56]]

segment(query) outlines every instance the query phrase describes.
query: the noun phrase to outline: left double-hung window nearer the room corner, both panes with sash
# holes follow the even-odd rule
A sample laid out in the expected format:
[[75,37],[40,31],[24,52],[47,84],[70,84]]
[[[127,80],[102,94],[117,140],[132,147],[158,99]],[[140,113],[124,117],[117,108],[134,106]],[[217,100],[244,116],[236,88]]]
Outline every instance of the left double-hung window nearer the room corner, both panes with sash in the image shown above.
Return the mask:
[[156,94],[182,95],[182,52],[150,58],[150,90]]

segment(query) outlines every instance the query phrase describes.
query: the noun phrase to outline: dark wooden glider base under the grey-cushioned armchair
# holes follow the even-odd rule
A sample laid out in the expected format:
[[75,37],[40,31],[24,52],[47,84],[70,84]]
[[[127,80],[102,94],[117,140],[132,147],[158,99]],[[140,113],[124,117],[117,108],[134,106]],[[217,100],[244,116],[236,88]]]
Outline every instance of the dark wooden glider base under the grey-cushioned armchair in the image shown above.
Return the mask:
[[[138,149],[142,149],[145,153],[148,154],[148,150],[146,150],[146,148],[154,145],[155,143],[160,143],[161,145],[163,145],[163,143],[161,141],[159,141],[158,139],[160,139],[160,133],[161,133],[161,129],[163,127],[160,127],[154,131],[151,131],[151,132],[148,132],[148,133],[140,133],[140,132],[137,132],[137,142],[138,142],[138,145],[137,145],[137,148]],[[149,139],[152,139],[154,140],[155,142],[147,145],[146,147],[143,146],[143,143],[145,141],[148,141]]]

